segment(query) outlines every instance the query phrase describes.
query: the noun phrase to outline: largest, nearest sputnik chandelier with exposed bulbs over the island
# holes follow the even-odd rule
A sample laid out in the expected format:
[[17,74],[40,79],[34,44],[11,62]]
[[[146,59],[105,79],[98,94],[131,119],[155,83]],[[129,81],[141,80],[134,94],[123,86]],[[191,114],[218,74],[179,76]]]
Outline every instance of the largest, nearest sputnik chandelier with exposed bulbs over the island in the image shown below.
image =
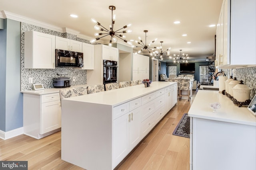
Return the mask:
[[[99,22],[97,22],[95,19],[92,18],[91,21],[93,23],[97,24],[97,25],[94,26],[94,29],[106,32],[106,33],[94,33],[94,35],[95,36],[103,35],[102,37],[106,37],[107,35],[110,35],[111,38],[110,38],[110,41],[109,41],[109,44],[108,44],[109,46],[112,46],[112,42],[115,43],[117,41],[116,37],[122,39],[124,42],[128,43],[129,45],[132,45],[132,43],[130,41],[127,41],[126,39],[123,39],[123,38],[126,38],[125,35],[119,34],[119,33],[130,33],[130,32],[132,32],[132,30],[130,30],[130,29],[128,29],[127,31],[126,30],[120,31],[121,29],[130,27],[132,24],[124,25],[122,28],[114,31],[114,24],[115,24],[115,20],[116,20],[116,15],[113,16],[113,10],[115,10],[116,7],[115,6],[109,6],[108,8],[112,11],[112,20],[111,20],[111,25],[110,25],[109,30],[106,29],[106,27],[103,27]],[[101,39],[102,37],[96,37],[95,39],[90,40],[90,43],[94,43],[95,41]]]

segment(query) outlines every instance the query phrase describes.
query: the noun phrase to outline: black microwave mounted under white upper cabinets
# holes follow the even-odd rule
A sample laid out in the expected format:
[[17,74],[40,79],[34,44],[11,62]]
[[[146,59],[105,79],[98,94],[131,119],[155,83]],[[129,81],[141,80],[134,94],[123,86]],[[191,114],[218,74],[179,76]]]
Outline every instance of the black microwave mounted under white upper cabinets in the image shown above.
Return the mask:
[[84,53],[55,49],[56,67],[83,67]]

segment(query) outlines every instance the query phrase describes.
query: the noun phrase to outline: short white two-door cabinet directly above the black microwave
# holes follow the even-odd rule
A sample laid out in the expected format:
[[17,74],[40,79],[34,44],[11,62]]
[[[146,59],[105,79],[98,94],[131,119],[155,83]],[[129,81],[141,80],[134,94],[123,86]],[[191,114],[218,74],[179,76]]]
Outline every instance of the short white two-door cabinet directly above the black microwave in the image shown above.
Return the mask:
[[56,36],[56,49],[82,53],[82,42]]

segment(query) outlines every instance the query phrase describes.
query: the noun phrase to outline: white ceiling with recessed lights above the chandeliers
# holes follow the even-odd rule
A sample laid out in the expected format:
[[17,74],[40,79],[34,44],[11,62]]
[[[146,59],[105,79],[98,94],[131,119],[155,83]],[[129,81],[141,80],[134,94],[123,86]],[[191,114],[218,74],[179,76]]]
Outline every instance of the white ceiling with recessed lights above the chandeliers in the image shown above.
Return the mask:
[[[126,34],[128,41],[138,40],[140,36],[145,43],[143,31],[148,30],[147,44],[158,38],[152,46],[160,47],[160,41],[164,41],[163,50],[171,47],[171,55],[180,54],[182,49],[190,61],[205,61],[214,54],[216,26],[209,25],[217,25],[222,0],[0,0],[0,4],[0,11],[74,29],[89,37],[97,32],[90,19],[109,27],[111,10],[108,6],[113,5],[116,6],[113,14],[117,16],[114,31],[132,23],[132,33]],[[71,18],[69,14],[76,14],[78,18]],[[181,23],[174,24],[174,21]],[[187,36],[182,37],[182,34]],[[109,39],[110,35],[102,40]],[[188,41],[191,43],[187,44]],[[172,61],[167,57],[165,60]]]

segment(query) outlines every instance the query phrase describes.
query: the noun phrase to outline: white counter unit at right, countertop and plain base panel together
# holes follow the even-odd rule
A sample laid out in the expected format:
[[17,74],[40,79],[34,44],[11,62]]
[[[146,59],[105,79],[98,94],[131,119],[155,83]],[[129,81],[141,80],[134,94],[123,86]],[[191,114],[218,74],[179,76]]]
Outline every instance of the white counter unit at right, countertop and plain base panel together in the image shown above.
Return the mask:
[[[219,102],[216,112],[210,103]],[[199,90],[190,110],[190,170],[255,170],[256,117],[226,96]]]

